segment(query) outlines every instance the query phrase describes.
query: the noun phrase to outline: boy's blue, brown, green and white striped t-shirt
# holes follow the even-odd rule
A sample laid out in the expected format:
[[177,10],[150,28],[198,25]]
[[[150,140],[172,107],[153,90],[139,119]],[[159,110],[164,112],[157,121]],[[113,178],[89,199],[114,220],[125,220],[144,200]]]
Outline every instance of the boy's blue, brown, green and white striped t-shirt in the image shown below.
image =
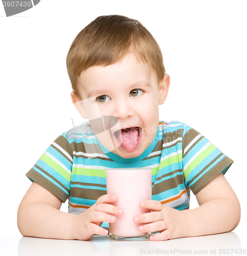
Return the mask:
[[68,212],[80,214],[106,194],[107,168],[150,167],[152,200],[183,210],[189,208],[190,189],[196,194],[233,163],[179,121],[159,121],[154,140],[138,157],[122,158],[104,149],[89,122],[78,125],[59,136],[27,176],[63,202],[68,199]]

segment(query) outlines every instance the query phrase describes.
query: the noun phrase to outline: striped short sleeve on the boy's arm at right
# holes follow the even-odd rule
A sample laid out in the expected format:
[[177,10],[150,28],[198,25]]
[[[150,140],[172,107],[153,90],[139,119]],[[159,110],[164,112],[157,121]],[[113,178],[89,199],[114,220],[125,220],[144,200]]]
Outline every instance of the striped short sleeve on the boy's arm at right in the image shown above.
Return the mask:
[[218,174],[225,175],[233,163],[232,159],[188,125],[183,132],[182,153],[185,185],[194,195]]

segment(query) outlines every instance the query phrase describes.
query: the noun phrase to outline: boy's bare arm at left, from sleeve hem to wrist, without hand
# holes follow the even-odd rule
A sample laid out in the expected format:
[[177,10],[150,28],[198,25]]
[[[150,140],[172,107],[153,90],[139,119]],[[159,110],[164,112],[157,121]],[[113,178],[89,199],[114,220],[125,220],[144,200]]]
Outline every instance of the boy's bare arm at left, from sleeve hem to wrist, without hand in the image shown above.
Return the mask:
[[60,211],[62,201],[33,182],[17,212],[17,225],[22,236],[72,239],[73,216]]

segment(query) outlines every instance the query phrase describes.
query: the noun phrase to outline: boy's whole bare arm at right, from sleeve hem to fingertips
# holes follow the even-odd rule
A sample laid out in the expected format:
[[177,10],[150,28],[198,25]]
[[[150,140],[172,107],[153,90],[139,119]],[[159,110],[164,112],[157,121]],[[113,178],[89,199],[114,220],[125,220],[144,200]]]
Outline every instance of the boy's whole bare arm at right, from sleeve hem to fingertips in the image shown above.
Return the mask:
[[232,187],[220,173],[196,195],[199,207],[179,211],[155,200],[140,206],[153,212],[136,216],[142,232],[160,231],[151,240],[197,237],[232,231],[240,221],[240,204]]

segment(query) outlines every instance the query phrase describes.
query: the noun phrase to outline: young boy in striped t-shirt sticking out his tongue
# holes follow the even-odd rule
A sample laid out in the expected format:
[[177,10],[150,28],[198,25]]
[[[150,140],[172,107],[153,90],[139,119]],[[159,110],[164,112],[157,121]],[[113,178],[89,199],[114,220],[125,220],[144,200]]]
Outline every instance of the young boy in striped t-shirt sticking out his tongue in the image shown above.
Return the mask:
[[[152,168],[152,200],[140,202],[152,212],[133,217],[144,223],[139,231],[159,231],[150,240],[238,225],[239,201],[224,177],[233,161],[190,126],[159,121],[170,78],[157,42],[137,20],[96,18],[73,41],[67,70],[72,102],[90,124],[59,136],[27,173],[33,183],[17,214],[23,236],[89,240],[108,234],[107,223],[124,210],[111,204],[115,195],[106,195],[105,169],[124,167]],[[98,117],[103,124],[105,117],[118,120],[106,139]],[[190,189],[200,205],[191,210]],[[66,199],[68,213],[59,210]]]

